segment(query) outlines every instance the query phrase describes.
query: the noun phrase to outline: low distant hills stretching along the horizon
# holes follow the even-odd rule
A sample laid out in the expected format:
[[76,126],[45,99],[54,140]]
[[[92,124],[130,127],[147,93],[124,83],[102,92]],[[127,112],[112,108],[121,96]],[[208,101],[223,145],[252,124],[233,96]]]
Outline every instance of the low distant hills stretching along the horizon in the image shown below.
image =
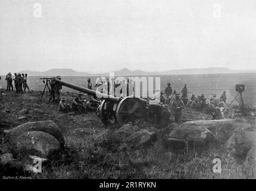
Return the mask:
[[[109,73],[94,73],[77,72],[72,69],[51,69],[45,72],[33,72],[23,70],[19,73],[28,73],[29,76],[108,76]],[[216,73],[256,73],[256,70],[231,70],[225,67],[208,67],[208,68],[194,68],[169,70],[161,72],[145,72],[142,70],[129,70],[127,68],[114,71],[115,76],[149,76],[149,75],[187,75],[187,74],[216,74]]]

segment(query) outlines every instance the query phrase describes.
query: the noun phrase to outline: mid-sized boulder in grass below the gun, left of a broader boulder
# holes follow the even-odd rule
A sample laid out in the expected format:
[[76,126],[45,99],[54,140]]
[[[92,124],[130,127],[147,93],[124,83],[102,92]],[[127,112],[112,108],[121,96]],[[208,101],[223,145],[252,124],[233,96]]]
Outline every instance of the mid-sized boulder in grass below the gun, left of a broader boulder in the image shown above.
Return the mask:
[[124,141],[126,143],[132,144],[134,147],[138,146],[150,146],[154,141],[157,140],[156,133],[150,133],[148,130],[137,131],[136,133],[130,135]]

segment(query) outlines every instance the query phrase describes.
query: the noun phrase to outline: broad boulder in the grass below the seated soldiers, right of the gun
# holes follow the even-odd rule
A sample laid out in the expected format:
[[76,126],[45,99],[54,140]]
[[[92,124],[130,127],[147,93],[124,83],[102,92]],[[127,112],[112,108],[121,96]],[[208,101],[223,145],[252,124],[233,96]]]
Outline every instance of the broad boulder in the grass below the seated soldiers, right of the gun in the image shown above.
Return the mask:
[[205,125],[196,125],[193,123],[179,125],[174,128],[164,141],[167,147],[185,147],[187,146],[208,146],[214,141],[214,135]]

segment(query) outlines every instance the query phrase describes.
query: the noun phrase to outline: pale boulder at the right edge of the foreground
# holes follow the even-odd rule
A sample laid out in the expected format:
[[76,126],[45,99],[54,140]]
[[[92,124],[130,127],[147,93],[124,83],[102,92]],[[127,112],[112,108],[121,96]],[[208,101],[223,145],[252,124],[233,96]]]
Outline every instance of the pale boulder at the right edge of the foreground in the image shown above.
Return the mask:
[[233,135],[224,144],[224,149],[235,159],[243,160],[253,144],[255,144],[255,132],[239,128],[234,130]]

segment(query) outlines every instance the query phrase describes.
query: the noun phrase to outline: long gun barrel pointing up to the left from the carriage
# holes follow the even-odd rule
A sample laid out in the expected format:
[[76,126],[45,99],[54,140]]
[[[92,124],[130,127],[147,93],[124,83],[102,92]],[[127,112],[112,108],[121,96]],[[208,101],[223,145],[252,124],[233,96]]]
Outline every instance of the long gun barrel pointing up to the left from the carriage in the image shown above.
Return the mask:
[[111,101],[114,101],[116,103],[118,103],[121,100],[120,97],[109,96],[107,94],[103,94],[103,93],[100,93],[100,92],[97,92],[97,91],[94,91],[94,90],[90,90],[88,88],[84,88],[84,87],[81,87],[79,85],[71,84],[69,82],[65,82],[65,81],[62,81],[62,80],[57,79],[57,78],[54,78],[53,80],[56,81],[57,83],[65,86],[65,87],[71,88],[73,90],[81,91],[83,93],[89,94],[90,96],[95,96],[95,97],[98,97],[100,99],[111,100]]

